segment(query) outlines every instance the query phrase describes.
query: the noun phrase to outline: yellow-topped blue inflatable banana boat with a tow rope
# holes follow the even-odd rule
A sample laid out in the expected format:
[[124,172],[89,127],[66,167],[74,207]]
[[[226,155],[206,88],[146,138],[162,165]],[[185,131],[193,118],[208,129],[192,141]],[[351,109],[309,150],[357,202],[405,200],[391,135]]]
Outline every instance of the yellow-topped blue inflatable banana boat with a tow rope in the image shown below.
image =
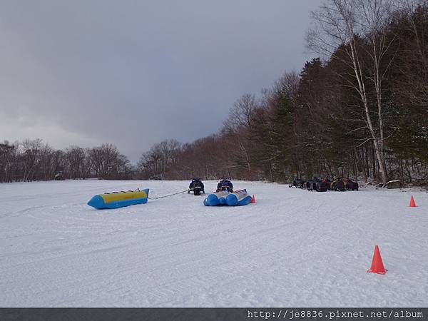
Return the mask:
[[123,208],[129,205],[145,204],[148,200],[148,188],[146,190],[128,190],[113,193],[104,193],[93,196],[88,205],[97,210]]

